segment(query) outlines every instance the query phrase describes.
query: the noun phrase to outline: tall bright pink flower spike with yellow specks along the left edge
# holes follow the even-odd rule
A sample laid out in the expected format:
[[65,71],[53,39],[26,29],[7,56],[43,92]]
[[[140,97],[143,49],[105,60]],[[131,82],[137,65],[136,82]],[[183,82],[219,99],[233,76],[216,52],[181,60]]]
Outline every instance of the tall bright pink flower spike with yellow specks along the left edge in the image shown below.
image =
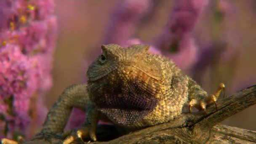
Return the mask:
[[[43,123],[56,40],[53,0],[0,0],[0,137]],[[32,125],[36,120],[36,125]]]

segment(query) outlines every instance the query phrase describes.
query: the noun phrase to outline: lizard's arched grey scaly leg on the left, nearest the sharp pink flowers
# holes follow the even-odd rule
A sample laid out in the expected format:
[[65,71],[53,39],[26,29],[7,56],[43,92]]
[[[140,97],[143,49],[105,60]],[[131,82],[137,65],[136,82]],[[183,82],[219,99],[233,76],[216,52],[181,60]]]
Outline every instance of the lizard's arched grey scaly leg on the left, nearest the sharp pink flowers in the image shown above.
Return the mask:
[[62,133],[72,108],[85,110],[88,100],[87,84],[75,84],[67,87],[49,110],[41,131],[30,141],[44,139],[47,133]]

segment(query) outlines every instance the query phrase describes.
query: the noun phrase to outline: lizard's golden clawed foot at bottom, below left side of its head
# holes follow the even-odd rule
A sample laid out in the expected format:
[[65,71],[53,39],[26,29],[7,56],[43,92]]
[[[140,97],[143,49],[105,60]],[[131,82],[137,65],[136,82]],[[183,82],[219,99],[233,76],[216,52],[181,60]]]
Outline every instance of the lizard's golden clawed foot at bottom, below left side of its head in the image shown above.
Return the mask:
[[83,126],[82,128],[79,128],[75,133],[74,131],[65,132],[64,135],[67,135],[67,133],[71,133],[71,134],[69,134],[69,136],[67,136],[66,139],[64,139],[63,144],[70,144],[72,141],[74,141],[77,138],[80,138],[81,141],[83,141],[83,136],[88,136],[88,135],[93,141],[96,141],[97,139],[96,139],[95,131],[96,131],[96,128],[92,128],[90,126]]

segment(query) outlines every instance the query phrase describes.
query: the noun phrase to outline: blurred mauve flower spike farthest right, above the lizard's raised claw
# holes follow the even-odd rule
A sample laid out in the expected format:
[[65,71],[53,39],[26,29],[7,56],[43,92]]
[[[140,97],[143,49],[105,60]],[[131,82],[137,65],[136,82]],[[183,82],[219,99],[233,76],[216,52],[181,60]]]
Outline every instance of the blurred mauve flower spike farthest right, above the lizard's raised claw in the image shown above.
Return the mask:
[[[213,1],[211,7],[213,9],[212,40],[207,46],[200,48],[198,61],[192,69],[192,75],[197,81],[201,81],[202,73],[206,68],[211,67],[211,71],[213,71],[211,83],[217,85],[220,80],[232,79],[235,64],[239,59],[240,49],[238,47],[242,37],[234,23],[237,21],[237,11],[232,0]],[[221,69],[221,75],[224,75],[223,72],[227,72],[229,77],[216,76],[220,73],[221,64],[228,67],[225,66],[225,70]],[[216,77],[219,77],[219,80]]]

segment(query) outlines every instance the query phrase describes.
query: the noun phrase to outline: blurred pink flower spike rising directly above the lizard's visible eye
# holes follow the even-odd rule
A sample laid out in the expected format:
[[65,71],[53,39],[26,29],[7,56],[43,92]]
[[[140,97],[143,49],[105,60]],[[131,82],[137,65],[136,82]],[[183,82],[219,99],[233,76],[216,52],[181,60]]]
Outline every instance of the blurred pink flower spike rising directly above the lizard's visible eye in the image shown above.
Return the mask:
[[103,43],[125,43],[134,35],[139,20],[149,11],[151,6],[152,0],[121,1],[109,21]]

